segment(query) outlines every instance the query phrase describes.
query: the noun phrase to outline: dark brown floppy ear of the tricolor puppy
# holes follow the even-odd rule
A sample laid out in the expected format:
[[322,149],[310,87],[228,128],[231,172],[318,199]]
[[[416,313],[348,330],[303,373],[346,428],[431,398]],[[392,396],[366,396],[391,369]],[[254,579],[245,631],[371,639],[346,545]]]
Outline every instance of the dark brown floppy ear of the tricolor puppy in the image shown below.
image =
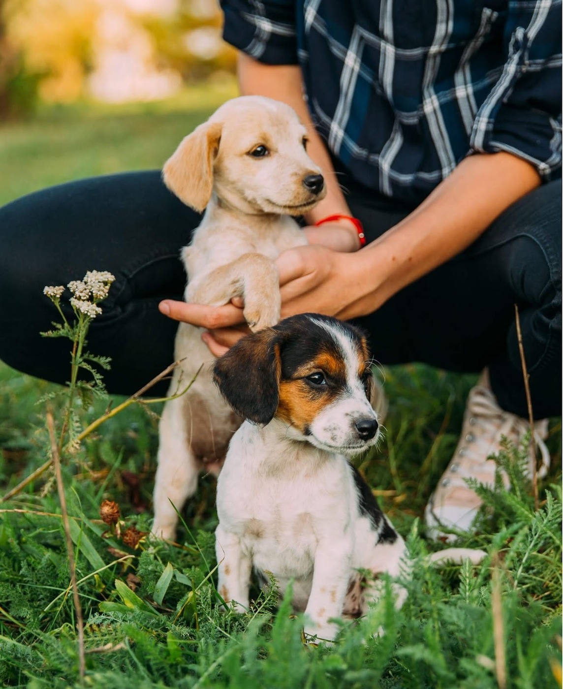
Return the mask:
[[239,340],[213,368],[213,380],[225,400],[236,413],[256,424],[274,418],[280,378],[280,341],[272,328]]

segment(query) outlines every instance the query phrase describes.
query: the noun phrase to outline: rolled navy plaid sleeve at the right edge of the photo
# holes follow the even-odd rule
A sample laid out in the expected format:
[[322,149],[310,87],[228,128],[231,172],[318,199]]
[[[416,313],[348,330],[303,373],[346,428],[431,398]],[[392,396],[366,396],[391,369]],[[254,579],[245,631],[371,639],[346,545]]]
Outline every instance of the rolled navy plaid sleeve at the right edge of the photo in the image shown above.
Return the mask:
[[471,150],[510,152],[542,181],[561,176],[561,21],[561,0],[509,0],[506,62],[471,133]]

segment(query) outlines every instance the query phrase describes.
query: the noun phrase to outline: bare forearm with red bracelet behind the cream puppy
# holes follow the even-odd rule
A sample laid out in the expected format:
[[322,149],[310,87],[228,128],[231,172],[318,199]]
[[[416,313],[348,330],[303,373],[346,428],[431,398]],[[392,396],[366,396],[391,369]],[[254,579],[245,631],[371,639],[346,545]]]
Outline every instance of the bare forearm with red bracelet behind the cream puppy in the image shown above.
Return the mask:
[[[351,215],[344,194],[338,185],[338,179],[325,143],[315,129],[309,109],[303,99],[303,79],[298,65],[264,65],[252,57],[240,53],[237,73],[240,93],[243,96],[268,96],[276,101],[283,101],[293,107],[299,119],[307,127],[309,138],[307,153],[322,170],[327,185],[327,196],[307,214],[305,218],[307,223],[314,225],[317,220],[335,214]],[[345,222],[341,225],[347,228],[349,246],[334,246],[333,248],[340,251],[354,251],[359,247],[356,229],[353,225],[348,225]],[[318,229],[308,229],[309,242],[323,243],[325,246],[331,247],[330,236],[335,229],[325,226]],[[323,241],[323,238],[327,241]]]

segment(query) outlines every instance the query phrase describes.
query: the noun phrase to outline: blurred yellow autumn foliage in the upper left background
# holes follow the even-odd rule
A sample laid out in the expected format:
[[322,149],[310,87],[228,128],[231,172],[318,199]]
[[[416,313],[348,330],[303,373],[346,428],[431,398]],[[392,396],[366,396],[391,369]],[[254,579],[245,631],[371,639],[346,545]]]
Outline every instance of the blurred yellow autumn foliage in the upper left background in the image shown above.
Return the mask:
[[164,98],[234,63],[216,0],[0,0],[0,119],[38,95]]

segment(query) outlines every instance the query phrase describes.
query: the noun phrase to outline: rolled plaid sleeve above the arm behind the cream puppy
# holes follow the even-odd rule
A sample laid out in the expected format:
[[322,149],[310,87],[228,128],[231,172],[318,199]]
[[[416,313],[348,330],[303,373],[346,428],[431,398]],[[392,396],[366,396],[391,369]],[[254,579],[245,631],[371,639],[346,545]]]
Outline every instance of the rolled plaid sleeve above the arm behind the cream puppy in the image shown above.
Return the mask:
[[223,39],[259,62],[297,64],[295,0],[221,0]]

